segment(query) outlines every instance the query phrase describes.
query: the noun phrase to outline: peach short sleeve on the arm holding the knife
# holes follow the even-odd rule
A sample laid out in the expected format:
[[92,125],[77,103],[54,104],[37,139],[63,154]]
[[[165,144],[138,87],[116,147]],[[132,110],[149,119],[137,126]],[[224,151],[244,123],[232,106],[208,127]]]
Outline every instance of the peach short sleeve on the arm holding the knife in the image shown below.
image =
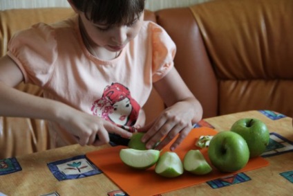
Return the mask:
[[57,59],[55,30],[41,23],[16,33],[8,43],[8,55],[21,69],[25,82],[43,86]]

